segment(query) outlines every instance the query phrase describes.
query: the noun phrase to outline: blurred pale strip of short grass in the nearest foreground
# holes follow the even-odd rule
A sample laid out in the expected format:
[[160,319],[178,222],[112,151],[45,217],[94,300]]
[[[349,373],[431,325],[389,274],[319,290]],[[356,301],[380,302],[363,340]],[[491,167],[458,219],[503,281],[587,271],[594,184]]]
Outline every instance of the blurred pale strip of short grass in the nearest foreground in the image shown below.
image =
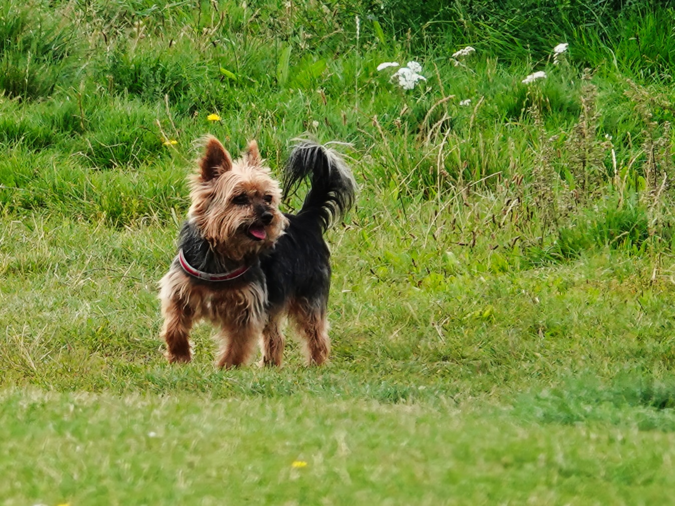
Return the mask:
[[670,432],[542,425],[495,408],[323,401],[317,412],[302,394],[35,391],[0,405],[16,434],[0,464],[7,504],[665,504],[673,485]]

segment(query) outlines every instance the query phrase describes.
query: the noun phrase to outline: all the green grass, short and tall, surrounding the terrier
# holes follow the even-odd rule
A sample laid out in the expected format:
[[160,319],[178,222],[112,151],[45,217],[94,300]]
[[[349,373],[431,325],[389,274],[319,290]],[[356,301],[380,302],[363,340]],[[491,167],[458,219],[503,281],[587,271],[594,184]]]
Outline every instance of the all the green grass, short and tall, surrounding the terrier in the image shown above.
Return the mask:
[[[495,5],[0,7],[1,503],[672,503],[673,6]],[[360,186],[331,362],[167,364],[194,142],[303,132]]]

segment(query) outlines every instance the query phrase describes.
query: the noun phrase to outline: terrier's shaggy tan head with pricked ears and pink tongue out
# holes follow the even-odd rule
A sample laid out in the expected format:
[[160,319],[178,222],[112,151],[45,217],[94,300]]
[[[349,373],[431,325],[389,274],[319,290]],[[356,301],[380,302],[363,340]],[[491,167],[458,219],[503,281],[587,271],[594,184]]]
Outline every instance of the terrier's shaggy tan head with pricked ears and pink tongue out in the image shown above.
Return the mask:
[[221,254],[240,260],[271,248],[288,219],[279,211],[281,188],[263,165],[252,140],[232,160],[215,137],[206,139],[198,172],[192,176],[188,219]]

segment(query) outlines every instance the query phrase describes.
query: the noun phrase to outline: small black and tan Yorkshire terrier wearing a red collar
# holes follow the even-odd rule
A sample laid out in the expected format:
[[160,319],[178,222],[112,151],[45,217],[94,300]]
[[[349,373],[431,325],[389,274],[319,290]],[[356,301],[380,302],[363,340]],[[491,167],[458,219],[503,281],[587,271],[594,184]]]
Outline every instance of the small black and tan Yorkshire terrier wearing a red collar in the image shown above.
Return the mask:
[[233,161],[215,137],[206,138],[178,255],[159,282],[169,362],[190,362],[190,329],[204,318],[219,327],[220,367],[246,363],[261,339],[263,364],[279,366],[286,316],[306,343],[308,363],[327,360],[331,266],[323,233],[352,206],[356,184],[337,152],[308,140],[290,154],[283,196],[304,179],[311,188],[300,212],[281,213],[281,188],[257,143]]

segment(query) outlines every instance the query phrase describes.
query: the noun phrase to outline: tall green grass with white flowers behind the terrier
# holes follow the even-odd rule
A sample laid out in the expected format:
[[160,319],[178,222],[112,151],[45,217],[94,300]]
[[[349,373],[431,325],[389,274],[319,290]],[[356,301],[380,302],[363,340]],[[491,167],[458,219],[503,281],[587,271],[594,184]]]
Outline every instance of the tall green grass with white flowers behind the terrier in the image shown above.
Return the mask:
[[[542,258],[672,235],[672,51],[668,30],[655,29],[672,24],[670,6],[534,2],[526,13],[460,1],[423,19],[427,4],[7,3],[0,205],[173,223],[194,139],[211,132],[236,151],[256,137],[278,169],[289,139],[308,132],[351,142],[358,177],[403,213],[424,201],[450,213],[447,202],[489,194],[501,219],[487,226]],[[562,40],[570,50],[553,65]],[[468,43],[477,54],[454,65]],[[414,90],[375,69],[413,59],[427,77]],[[520,82],[538,69],[545,81]],[[213,112],[223,119],[207,121]],[[622,215],[627,202],[639,203]],[[614,225],[597,229],[615,212],[636,230],[647,219],[650,240],[628,225],[622,240]],[[570,238],[582,229],[597,241]]]

